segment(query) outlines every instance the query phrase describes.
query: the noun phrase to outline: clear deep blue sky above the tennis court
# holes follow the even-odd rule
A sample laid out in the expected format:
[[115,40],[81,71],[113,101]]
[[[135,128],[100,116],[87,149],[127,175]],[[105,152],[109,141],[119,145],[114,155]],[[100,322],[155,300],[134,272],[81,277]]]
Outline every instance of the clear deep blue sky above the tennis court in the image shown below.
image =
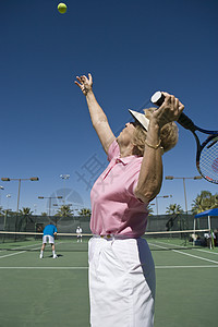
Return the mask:
[[[47,201],[38,196],[64,189],[74,208],[90,206],[89,185],[107,159],[76,75],[93,74],[116,134],[131,120],[128,109],[158,89],[179,97],[197,125],[218,129],[216,0],[65,1],[63,15],[55,0],[0,2],[0,177],[39,177],[22,182],[21,208],[40,214]],[[180,128],[177,147],[164,156],[165,175],[197,175],[195,150],[191,132]],[[1,185],[0,205],[15,210],[19,183]],[[218,192],[205,180],[185,185],[189,209],[202,190]],[[172,198],[158,198],[159,214],[170,203],[184,208],[182,180],[164,181],[162,195]]]

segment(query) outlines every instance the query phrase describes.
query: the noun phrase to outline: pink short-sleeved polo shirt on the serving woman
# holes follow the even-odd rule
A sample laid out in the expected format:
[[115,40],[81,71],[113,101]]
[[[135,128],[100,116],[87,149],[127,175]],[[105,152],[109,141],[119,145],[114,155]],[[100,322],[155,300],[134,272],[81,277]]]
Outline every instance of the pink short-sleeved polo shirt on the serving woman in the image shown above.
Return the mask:
[[94,234],[142,237],[147,225],[147,205],[137,199],[137,185],[143,157],[120,158],[120,148],[113,141],[108,152],[110,164],[90,191],[90,230]]

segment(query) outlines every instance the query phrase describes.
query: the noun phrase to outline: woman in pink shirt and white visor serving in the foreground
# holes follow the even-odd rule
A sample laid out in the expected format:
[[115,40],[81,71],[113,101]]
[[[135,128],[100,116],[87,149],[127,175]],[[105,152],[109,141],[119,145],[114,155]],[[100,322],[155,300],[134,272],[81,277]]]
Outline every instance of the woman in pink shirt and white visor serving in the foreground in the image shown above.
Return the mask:
[[147,205],[162,182],[162,154],[178,142],[174,123],[183,105],[165,94],[159,109],[132,111],[116,138],[93,93],[93,78],[75,84],[86,97],[94,129],[109,165],[90,192],[93,238],[88,244],[90,325],[152,327],[155,267],[145,239]]

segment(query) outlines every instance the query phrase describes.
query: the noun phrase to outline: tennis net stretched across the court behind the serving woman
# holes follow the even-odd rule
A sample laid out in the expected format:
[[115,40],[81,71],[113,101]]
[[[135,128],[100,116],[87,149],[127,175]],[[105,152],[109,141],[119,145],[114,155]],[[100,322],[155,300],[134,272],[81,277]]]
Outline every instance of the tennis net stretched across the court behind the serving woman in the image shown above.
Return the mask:
[[[58,233],[56,238],[57,251],[87,251],[87,243],[92,237],[90,233],[83,233],[82,238],[77,238],[76,233]],[[211,233],[208,229],[146,232],[143,238],[147,240],[152,251],[171,250],[178,246],[192,249],[193,246],[218,245],[218,234]],[[26,251],[38,251],[41,241],[41,232],[0,231],[0,250],[16,251],[22,247]],[[50,251],[49,246],[46,249]]]

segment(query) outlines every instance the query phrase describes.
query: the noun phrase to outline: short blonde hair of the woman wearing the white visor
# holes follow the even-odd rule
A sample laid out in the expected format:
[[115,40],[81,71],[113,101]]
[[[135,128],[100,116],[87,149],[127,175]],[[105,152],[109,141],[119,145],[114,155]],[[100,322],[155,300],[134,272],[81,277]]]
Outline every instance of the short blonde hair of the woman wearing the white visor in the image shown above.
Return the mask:
[[[150,119],[152,112],[156,110],[157,108],[148,108],[144,109],[146,118]],[[145,140],[147,137],[147,132],[141,124],[137,124],[135,126],[135,133],[133,136],[133,154],[135,156],[142,157],[144,155],[145,149]],[[164,152],[167,153],[171,148],[175,146],[179,138],[179,129],[174,122],[169,122],[166,125],[164,125],[160,130],[160,146],[164,148]]]

